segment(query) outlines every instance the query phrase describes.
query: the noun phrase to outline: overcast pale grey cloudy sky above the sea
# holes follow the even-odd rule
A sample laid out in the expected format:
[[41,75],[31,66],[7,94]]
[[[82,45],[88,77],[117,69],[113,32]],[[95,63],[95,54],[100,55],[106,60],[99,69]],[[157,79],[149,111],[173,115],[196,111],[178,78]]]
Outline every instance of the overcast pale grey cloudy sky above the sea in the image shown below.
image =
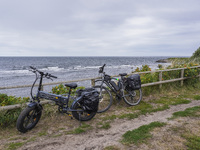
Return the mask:
[[199,0],[0,0],[0,56],[191,56]]

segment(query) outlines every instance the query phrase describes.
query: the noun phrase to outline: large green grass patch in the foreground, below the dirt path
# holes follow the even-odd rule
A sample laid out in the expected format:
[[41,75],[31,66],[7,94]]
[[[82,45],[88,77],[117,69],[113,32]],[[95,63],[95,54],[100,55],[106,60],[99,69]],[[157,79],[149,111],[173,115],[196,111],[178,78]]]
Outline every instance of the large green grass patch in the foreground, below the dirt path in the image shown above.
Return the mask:
[[151,138],[152,135],[150,132],[157,127],[163,127],[166,123],[161,122],[152,122],[148,125],[143,125],[138,129],[128,131],[123,135],[122,144],[139,144],[145,142],[148,138]]

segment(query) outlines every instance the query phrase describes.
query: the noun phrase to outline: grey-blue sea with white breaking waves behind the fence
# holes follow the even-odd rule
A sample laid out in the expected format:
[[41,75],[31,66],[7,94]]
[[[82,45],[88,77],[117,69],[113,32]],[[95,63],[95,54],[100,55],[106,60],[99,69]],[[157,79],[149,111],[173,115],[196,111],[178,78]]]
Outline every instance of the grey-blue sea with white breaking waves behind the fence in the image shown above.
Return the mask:
[[[32,85],[35,74],[30,66],[48,72],[57,79],[44,79],[43,83],[66,82],[85,78],[99,77],[99,67],[106,64],[104,71],[109,75],[131,73],[137,67],[149,65],[152,70],[158,68],[156,61],[169,57],[0,57],[0,87]],[[169,65],[169,64],[162,64]],[[77,82],[78,86],[91,87],[90,81]],[[44,86],[44,91],[51,92],[53,86]],[[30,96],[31,87],[0,89],[0,93],[17,97]],[[37,87],[34,88],[36,93]]]

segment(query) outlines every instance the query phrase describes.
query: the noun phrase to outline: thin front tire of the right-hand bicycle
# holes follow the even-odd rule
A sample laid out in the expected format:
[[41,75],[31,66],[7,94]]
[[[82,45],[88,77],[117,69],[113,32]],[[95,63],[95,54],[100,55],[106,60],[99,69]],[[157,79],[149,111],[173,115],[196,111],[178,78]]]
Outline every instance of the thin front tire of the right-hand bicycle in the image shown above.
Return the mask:
[[[97,85],[97,86],[94,86],[94,88],[95,89],[99,89],[99,90],[97,90],[97,91],[100,91],[100,89],[102,88],[102,89],[104,89],[104,91],[106,92],[106,94],[108,94],[109,95],[109,102],[108,102],[108,105],[106,106],[106,107],[104,107],[104,108],[101,108],[101,98],[99,99],[99,108],[98,108],[98,111],[97,111],[97,113],[102,113],[102,112],[105,112],[105,111],[107,111],[110,107],[111,107],[111,105],[112,105],[112,103],[113,103],[113,98],[112,98],[112,94],[110,93],[110,91],[108,90],[108,88],[106,88],[105,86],[100,86],[100,85]],[[99,95],[101,96],[101,94],[102,93],[100,93]]]

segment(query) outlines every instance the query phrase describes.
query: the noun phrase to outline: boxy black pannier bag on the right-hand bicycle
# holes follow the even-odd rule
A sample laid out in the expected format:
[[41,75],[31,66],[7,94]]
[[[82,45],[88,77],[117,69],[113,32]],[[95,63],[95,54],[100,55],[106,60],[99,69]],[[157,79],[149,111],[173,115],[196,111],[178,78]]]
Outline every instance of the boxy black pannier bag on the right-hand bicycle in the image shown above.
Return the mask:
[[127,89],[129,90],[139,90],[141,88],[141,80],[139,74],[130,75],[127,78]]

